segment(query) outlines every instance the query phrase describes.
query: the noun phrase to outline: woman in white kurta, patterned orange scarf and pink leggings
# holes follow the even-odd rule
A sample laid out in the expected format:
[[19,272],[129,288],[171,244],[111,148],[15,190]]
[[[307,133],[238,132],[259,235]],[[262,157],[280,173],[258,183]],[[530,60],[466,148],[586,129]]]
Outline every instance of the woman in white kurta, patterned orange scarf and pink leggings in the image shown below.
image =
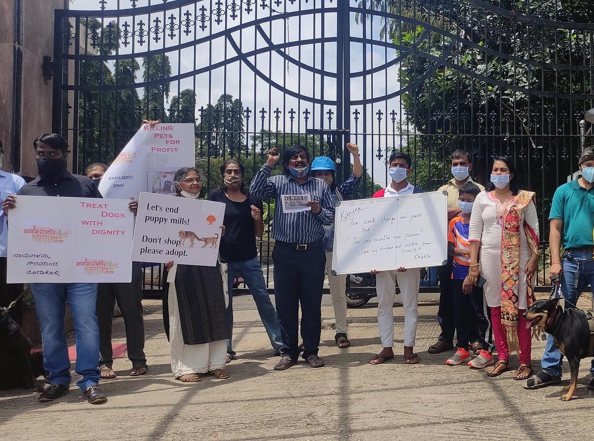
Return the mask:
[[532,374],[530,326],[522,313],[535,301],[532,278],[538,264],[539,229],[534,196],[519,190],[516,167],[500,156],[493,162],[486,191],[472,206],[470,269],[464,285],[472,288],[481,274],[486,279],[485,299],[499,354],[487,371],[489,377],[507,370],[510,347],[520,357],[513,379],[525,380]]

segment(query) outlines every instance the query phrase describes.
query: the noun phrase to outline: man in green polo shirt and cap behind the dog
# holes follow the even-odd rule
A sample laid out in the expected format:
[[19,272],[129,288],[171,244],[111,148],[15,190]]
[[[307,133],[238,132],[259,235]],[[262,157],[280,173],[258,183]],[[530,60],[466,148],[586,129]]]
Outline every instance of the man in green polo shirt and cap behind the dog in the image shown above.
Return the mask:
[[[594,262],[592,232],[594,230],[594,150],[584,150],[579,160],[582,174],[575,181],[561,185],[555,191],[549,221],[549,245],[551,246],[551,276],[561,276],[561,292],[567,300],[565,308],[573,308],[582,291],[589,284],[594,294]],[[563,262],[560,258],[563,238]],[[575,286],[578,273],[577,289]],[[542,371],[530,378],[525,389],[544,388],[561,382],[560,354],[552,335],[546,336],[545,353],[542,354]],[[590,373],[594,374],[594,360]],[[594,389],[594,377],[588,383]]]

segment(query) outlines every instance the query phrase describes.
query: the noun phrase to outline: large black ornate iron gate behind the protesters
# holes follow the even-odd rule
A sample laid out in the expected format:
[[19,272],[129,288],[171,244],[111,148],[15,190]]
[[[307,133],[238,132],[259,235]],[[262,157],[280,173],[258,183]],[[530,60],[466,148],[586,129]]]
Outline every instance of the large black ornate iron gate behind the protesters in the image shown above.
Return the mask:
[[[387,183],[394,150],[413,156],[426,190],[449,178],[454,149],[472,153],[479,182],[508,155],[538,193],[542,283],[552,193],[589,143],[594,25],[574,4],[102,0],[56,11],[53,130],[81,171],[109,163],[143,118],[193,122],[207,191],[226,158],[251,179],[270,147],[295,143],[340,161],[339,179],[346,142],[358,143],[361,197]],[[272,247],[265,234],[265,264]]]

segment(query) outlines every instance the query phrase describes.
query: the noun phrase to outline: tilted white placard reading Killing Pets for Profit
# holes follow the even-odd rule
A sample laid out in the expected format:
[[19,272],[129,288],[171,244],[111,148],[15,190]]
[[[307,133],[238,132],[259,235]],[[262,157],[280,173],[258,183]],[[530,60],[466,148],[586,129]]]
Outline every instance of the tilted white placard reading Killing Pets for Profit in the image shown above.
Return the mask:
[[195,162],[194,124],[143,124],[101,178],[99,191],[103,197],[137,199],[147,191],[149,172],[171,173]]

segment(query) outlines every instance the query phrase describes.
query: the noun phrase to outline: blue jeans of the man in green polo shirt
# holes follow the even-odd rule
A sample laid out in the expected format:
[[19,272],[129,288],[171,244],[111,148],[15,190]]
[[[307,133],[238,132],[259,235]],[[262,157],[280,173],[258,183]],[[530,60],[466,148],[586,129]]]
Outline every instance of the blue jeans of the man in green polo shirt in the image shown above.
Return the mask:
[[[579,253],[568,253],[575,260],[590,259],[592,252],[583,251]],[[574,305],[577,304],[577,300],[580,294],[586,288],[587,285],[591,286],[591,290],[594,295],[594,261],[580,263],[579,265],[579,279],[577,282],[577,290],[574,290],[574,283],[576,280],[576,271],[578,264],[573,260],[563,259],[563,272],[561,273],[561,292],[563,296]],[[573,308],[572,305],[565,302],[565,308]],[[541,367],[546,373],[561,377],[561,363],[563,363],[563,355],[555,347],[555,342],[552,335],[546,335],[546,348],[545,353],[542,354]],[[592,360],[592,367],[590,372],[594,374],[594,359]]]

